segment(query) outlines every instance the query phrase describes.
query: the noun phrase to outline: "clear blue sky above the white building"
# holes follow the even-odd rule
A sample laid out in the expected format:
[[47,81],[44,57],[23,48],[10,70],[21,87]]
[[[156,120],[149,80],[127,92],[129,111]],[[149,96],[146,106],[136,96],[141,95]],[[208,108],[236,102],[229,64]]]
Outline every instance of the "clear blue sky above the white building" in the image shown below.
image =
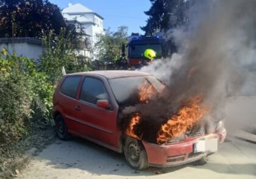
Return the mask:
[[104,17],[104,29],[116,31],[119,26],[127,26],[128,33],[144,34],[140,26],[146,25],[148,16],[144,11],[149,10],[149,0],[49,0],[60,9],[68,7],[69,3],[80,3]]

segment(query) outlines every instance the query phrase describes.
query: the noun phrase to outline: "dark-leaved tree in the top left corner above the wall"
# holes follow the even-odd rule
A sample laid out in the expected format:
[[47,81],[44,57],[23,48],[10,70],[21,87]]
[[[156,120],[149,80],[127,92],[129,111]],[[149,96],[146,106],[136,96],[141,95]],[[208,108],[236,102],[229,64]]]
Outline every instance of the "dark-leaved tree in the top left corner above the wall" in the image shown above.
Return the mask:
[[0,37],[41,38],[66,27],[57,5],[48,0],[0,0]]

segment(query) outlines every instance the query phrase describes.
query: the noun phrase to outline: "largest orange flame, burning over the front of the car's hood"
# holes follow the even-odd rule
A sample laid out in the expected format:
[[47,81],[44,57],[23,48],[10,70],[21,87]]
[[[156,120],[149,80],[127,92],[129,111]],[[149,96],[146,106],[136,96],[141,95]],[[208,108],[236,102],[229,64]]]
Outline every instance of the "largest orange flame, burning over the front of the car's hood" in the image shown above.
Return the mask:
[[202,95],[198,95],[187,102],[182,102],[182,108],[174,114],[166,124],[163,124],[157,135],[157,143],[165,144],[170,139],[180,136],[188,128],[204,116],[207,109],[201,107]]

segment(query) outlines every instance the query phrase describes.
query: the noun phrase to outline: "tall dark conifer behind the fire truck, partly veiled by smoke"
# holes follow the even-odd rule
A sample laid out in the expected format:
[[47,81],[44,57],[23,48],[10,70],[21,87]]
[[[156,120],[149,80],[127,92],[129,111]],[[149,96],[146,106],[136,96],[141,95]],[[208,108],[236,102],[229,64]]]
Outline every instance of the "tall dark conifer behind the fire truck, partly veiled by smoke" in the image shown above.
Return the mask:
[[147,24],[141,27],[145,35],[155,35],[168,29],[188,23],[185,9],[189,2],[184,0],[150,0],[151,8],[144,12],[149,16]]

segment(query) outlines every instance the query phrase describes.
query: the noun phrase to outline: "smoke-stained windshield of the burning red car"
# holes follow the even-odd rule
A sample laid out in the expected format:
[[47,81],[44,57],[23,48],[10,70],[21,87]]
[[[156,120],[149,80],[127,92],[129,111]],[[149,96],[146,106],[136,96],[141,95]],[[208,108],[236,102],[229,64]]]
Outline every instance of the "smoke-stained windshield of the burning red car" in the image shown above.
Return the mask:
[[119,105],[134,103],[134,97],[138,97],[138,89],[145,82],[153,85],[157,93],[165,88],[165,85],[152,75],[110,79],[108,81]]

